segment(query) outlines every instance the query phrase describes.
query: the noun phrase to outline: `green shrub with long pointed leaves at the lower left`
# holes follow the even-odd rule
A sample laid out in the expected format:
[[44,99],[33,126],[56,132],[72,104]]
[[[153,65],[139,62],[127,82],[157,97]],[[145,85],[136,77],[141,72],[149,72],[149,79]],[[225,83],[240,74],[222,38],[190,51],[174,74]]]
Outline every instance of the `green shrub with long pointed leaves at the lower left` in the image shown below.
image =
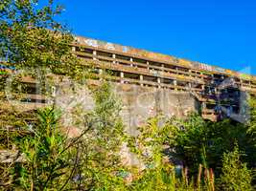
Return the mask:
[[23,190],[60,190],[69,181],[74,166],[70,161],[76,152],[60,134],[59,113],[53,108],[38,111],[33,135],[18,140],[25,163],[16,164],[15,186]]

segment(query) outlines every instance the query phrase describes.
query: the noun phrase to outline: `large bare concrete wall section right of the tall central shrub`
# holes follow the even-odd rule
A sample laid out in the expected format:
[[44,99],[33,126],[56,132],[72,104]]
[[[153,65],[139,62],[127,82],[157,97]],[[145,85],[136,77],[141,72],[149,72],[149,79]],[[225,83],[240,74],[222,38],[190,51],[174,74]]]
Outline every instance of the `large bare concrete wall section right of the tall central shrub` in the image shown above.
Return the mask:
[[197,101],[189,93],[129,84],[116,84],[114,87],[122,99],[121,116],[131,135],[136,134],[135,127],[145,124],[150,117],[185,117],[197,110]]

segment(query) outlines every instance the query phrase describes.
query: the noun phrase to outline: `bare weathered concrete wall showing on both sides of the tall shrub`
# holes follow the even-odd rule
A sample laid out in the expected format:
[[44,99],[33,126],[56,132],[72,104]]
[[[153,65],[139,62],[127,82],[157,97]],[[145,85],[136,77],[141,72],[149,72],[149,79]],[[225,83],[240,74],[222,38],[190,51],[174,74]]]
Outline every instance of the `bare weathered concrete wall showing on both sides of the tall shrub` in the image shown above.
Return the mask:
[[[136,135],[136,127],[144,125],[149,117],[185,117],[198,109],[197,101],[189,93],[120,83],[112,83],[112,86],[122,101],[121,116],[131,135]],[[70,91],[69,82],[61,84],[56,99],[57,105],[64,112],[64,123],[67,126],[72,123],[71,110],[76,105],[80,104],[84,110],[92,110],[94,107],[89,90],[83,86],[74,94]]]

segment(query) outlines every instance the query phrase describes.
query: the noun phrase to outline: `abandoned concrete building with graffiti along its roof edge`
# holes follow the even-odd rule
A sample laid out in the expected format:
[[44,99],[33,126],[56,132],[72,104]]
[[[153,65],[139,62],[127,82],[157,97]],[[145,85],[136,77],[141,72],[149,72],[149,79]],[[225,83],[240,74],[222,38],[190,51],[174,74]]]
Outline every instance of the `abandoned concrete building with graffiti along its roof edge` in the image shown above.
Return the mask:
[[[246,96],[256,95],[253,75],[95,39],[75,39],[73,52],[94,63],[95,75],[110,72],[107,78],[120,94],[128,126],[140,125],[142,118],[159,113],[182,117],[188,111],[198,111],[214,121],[241,119]],[[30,101],[23,102],[26,108],[33,109],[34,102],[36,107],[47,104],[47,100],[36,101],[33,94],[29,97]]]

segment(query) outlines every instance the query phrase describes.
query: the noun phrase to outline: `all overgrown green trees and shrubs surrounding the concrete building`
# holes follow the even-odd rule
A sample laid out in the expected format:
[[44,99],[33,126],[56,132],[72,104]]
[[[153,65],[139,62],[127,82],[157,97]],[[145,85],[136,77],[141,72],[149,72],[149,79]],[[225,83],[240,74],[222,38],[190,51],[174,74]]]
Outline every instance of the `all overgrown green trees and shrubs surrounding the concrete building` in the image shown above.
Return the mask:
[[[254,189],[255,99],[250,100],[251,120],[246,124],[205,121],[197,114],[152,117],[135,137],[126,133],[119,116],[122,103],[104,79],[88,87],[94,109],[75,105],[69,127],[55,102],[27,112],[13,108],[6,87],[12,86],[17,96],[24,93],[24,76],[37,79],[39,92],[45,94],[52,94],[53,74],[80,84],[88,77],[69,46],[73,36],[55,20],[61,7],[52,0],[40,3],[0,2],[0,56],[24,71],[15,74],[12,84],[12,74],[0,77],[0,151],[12,154],[11,160],[0,161],[2,190]],[[70,136],[71,131],[79,133]],[[128,158],[136,164],[126,163]]]

